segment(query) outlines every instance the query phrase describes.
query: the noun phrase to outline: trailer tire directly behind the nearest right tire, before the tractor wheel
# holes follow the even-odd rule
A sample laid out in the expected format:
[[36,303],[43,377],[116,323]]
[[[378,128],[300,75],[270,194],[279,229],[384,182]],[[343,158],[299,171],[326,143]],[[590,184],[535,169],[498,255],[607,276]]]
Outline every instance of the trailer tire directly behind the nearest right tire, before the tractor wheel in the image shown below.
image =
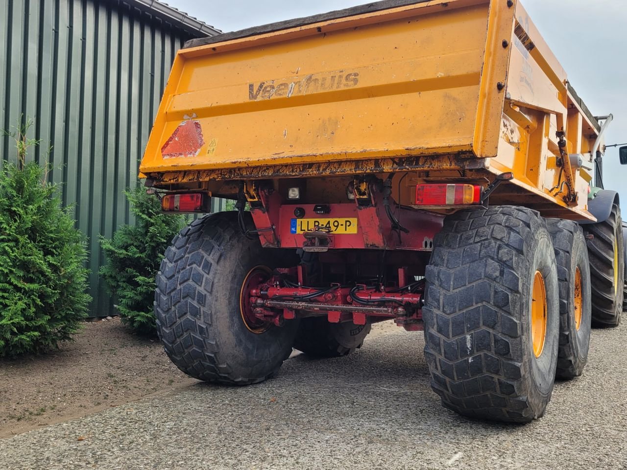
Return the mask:
[[[576,222],[548,219],[553,239],[559,280],[559,350],[556,375],[560,379],[579,377],[587,362],[592,326],[590,261],[586,239]],[[575,278],[581,278],[581,323],[575,320]]]

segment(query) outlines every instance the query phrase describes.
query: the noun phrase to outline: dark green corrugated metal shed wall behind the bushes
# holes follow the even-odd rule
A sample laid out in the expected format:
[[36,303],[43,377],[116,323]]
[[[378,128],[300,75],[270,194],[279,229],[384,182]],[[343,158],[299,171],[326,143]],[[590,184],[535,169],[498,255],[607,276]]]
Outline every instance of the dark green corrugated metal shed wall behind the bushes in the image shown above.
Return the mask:
[[[202,34],[199,34],[202,35]],[[192,36],[118,0],[0,0],[0,128],[21,115],[53,150],[51,180],[88,237],[92,316],[112,313],[98,236],[132,222],[135,184],[172,60]],[[0,163],[15,159],[0,137]],[[30,158],[46,159],[44,144]]]

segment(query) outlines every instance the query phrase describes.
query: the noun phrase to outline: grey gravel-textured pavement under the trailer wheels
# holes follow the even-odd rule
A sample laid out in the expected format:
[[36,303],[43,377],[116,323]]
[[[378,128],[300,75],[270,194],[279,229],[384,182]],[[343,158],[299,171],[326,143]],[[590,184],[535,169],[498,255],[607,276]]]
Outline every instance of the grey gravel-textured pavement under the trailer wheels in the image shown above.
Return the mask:
[[251,387],[194,384],[0,441],[13,469],[627,469],[627,325],[526,426],[464,419],[429,388],[421,333],[288,360]]

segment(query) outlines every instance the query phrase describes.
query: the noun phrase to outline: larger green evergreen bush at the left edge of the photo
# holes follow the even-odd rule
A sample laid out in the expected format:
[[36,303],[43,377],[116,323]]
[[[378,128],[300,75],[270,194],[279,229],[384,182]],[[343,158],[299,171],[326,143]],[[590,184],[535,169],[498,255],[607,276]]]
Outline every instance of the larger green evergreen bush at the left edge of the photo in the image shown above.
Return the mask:
[[85,239],[59,186],[46,181],[50,167],[26,163],[30,120],[12,137],[17,164],[0,170],[0,356],[39,353],[71,339],[87,315]]

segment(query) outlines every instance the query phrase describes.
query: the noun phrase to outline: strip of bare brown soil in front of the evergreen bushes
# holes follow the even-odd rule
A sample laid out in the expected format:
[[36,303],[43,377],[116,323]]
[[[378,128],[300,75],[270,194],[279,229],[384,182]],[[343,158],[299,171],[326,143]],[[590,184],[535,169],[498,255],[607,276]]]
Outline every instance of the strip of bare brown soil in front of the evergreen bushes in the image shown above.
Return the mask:
[[0,438],[195,382],[119,318],[85,323],[51,353],[0,359]]

